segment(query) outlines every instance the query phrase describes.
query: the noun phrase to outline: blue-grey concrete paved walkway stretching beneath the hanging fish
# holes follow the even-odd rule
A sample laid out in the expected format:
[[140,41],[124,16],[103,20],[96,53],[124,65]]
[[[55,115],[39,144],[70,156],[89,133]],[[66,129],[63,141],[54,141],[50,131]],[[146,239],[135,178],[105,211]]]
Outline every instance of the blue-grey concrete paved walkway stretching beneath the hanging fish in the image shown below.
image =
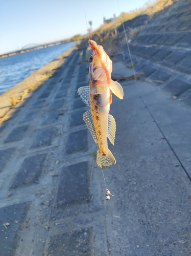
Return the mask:
[[122,82],[106,201],[77,94],[85,54],[71,54],[0,126],[0,255],[190,255],[190,107],[156,84]]

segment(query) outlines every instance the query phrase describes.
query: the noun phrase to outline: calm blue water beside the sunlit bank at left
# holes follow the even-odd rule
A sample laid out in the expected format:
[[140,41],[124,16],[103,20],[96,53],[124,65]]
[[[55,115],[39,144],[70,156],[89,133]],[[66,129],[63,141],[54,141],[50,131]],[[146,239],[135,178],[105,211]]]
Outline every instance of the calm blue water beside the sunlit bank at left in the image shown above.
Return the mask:
[[38,70],[74,45],[75,42],[66,42],[62,45],[1,58],[0,94],[31,75],[32,69]]

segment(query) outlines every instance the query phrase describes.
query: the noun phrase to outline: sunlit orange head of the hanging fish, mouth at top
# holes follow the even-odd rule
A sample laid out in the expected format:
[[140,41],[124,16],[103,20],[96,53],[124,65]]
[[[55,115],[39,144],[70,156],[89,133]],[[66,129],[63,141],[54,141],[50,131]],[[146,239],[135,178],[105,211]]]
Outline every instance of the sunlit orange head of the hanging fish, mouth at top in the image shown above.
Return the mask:
[[112,72],[112,61],[104,51],[102,46],[97,45],[93,40],[89,40],[89,46],[93,50],[92,55],[89,57],[89,77],[93,80],[110,82]]

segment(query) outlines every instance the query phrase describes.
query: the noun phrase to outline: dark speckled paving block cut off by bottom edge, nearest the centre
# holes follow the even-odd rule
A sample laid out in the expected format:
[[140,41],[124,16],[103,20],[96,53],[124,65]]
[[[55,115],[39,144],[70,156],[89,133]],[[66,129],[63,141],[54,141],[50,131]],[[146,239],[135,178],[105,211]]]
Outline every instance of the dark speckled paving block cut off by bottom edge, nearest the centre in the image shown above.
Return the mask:
[[93,256],[91,228],[71,230],[51,237],[49,251],[51,256]]

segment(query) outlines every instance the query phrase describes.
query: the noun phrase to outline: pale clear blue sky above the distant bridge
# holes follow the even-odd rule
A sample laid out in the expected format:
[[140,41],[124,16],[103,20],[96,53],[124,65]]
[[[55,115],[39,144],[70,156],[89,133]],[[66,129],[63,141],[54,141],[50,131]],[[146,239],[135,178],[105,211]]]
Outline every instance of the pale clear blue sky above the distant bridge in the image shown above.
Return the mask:
[[[118,0],[121,11],[142,7],[147,0]],[[93,29],[103,17],[120,15],[117,0],[84,0]],[[0,2],[0,54],[36,43],[66,39],[87,31],[83,0],[6,0]]]

